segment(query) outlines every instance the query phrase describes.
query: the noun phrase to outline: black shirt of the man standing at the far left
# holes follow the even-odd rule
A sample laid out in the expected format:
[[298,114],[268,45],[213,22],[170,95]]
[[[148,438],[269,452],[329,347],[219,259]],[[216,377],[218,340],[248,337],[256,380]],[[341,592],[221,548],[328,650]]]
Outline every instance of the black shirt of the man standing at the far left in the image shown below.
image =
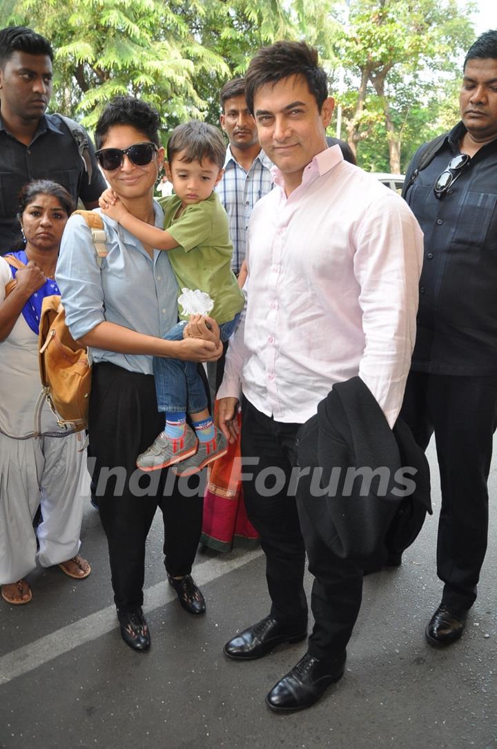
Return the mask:
[[93,165],[91,184],[78,146],[59,115],[44,115],[28,146],[5,130],[0,117],[0,255],[22,247],[16,205],[26,182],[32,179],[58,182],[76,202],[78,198],[84,203],[100,198],[106,181],[89,138],[88,145]]

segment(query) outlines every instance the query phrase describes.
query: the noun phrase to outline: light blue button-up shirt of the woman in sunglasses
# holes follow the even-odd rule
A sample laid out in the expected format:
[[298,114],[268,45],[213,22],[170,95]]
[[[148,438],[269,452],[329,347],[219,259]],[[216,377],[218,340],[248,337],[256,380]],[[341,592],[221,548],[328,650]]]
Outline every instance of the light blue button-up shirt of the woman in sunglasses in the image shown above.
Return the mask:
[[[153,207],[155,225],[162,228],[162,208],[155,202]],[[106,216],[102,218],[108,255],[101,268],[85,219],[71,216],[64,229],[56,279],[70,333],[80,339],[109,321],[162,338],[177,322],[177,282],[168,253],[155,249],[150,258],[129,231]],[[153,374],[153,357],[92,348],[91,359],[94,363],[111,362],[130,372]]]

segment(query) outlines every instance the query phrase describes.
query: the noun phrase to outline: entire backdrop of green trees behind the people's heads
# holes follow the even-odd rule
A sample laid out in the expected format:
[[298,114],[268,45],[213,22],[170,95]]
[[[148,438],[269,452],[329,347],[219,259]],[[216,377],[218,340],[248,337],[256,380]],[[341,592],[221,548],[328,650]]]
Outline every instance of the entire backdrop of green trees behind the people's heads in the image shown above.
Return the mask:
[[129,93],[159,109],[165,133],[189,118],[217,123],[219,89],[260,46],[305,39],[340,91],[359,163],[397,172],[457,118],[454,65],[474,38],[471,12],[457,0],[1,0],[0,25],[52,41],[52,109],[92,127]]

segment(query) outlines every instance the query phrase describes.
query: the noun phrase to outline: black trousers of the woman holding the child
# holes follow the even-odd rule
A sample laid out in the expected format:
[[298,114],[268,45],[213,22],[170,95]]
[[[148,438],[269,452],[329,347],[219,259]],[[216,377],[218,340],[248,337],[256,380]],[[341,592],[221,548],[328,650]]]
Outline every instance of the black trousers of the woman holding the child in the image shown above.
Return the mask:
[[203,497],[195,491],[199,477],[188,480],[185,492],[185,479],[178,486],[167,470],[144,473],[135,465],[162,430],[163,419],[152,375],[109,363],[94,366],[88,428],[93,480],[109,545],[114,600],[122,612],[143,603],[145,540],[157,506],[164,520],[169,574],[190,573],[200,540]]

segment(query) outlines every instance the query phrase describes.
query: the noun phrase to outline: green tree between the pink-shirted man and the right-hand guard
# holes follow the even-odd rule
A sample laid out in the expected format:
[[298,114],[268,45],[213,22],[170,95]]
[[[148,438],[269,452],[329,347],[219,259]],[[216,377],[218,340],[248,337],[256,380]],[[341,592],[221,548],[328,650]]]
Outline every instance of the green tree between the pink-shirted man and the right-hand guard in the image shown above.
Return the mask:
[[359,81],[353,102],[349,97],[346,103],[353,151],[373,134],[380,136],[391,172],[400,172],[403,138],[427,124],[420,104],[430,107],[436,122],[436,97],[445,98],[446,82],[459,72],[456,62],[474,38],[472,10],[471,4],[460,10],[456,0],[350,2],[350,26],[340,46],[349,83]]

